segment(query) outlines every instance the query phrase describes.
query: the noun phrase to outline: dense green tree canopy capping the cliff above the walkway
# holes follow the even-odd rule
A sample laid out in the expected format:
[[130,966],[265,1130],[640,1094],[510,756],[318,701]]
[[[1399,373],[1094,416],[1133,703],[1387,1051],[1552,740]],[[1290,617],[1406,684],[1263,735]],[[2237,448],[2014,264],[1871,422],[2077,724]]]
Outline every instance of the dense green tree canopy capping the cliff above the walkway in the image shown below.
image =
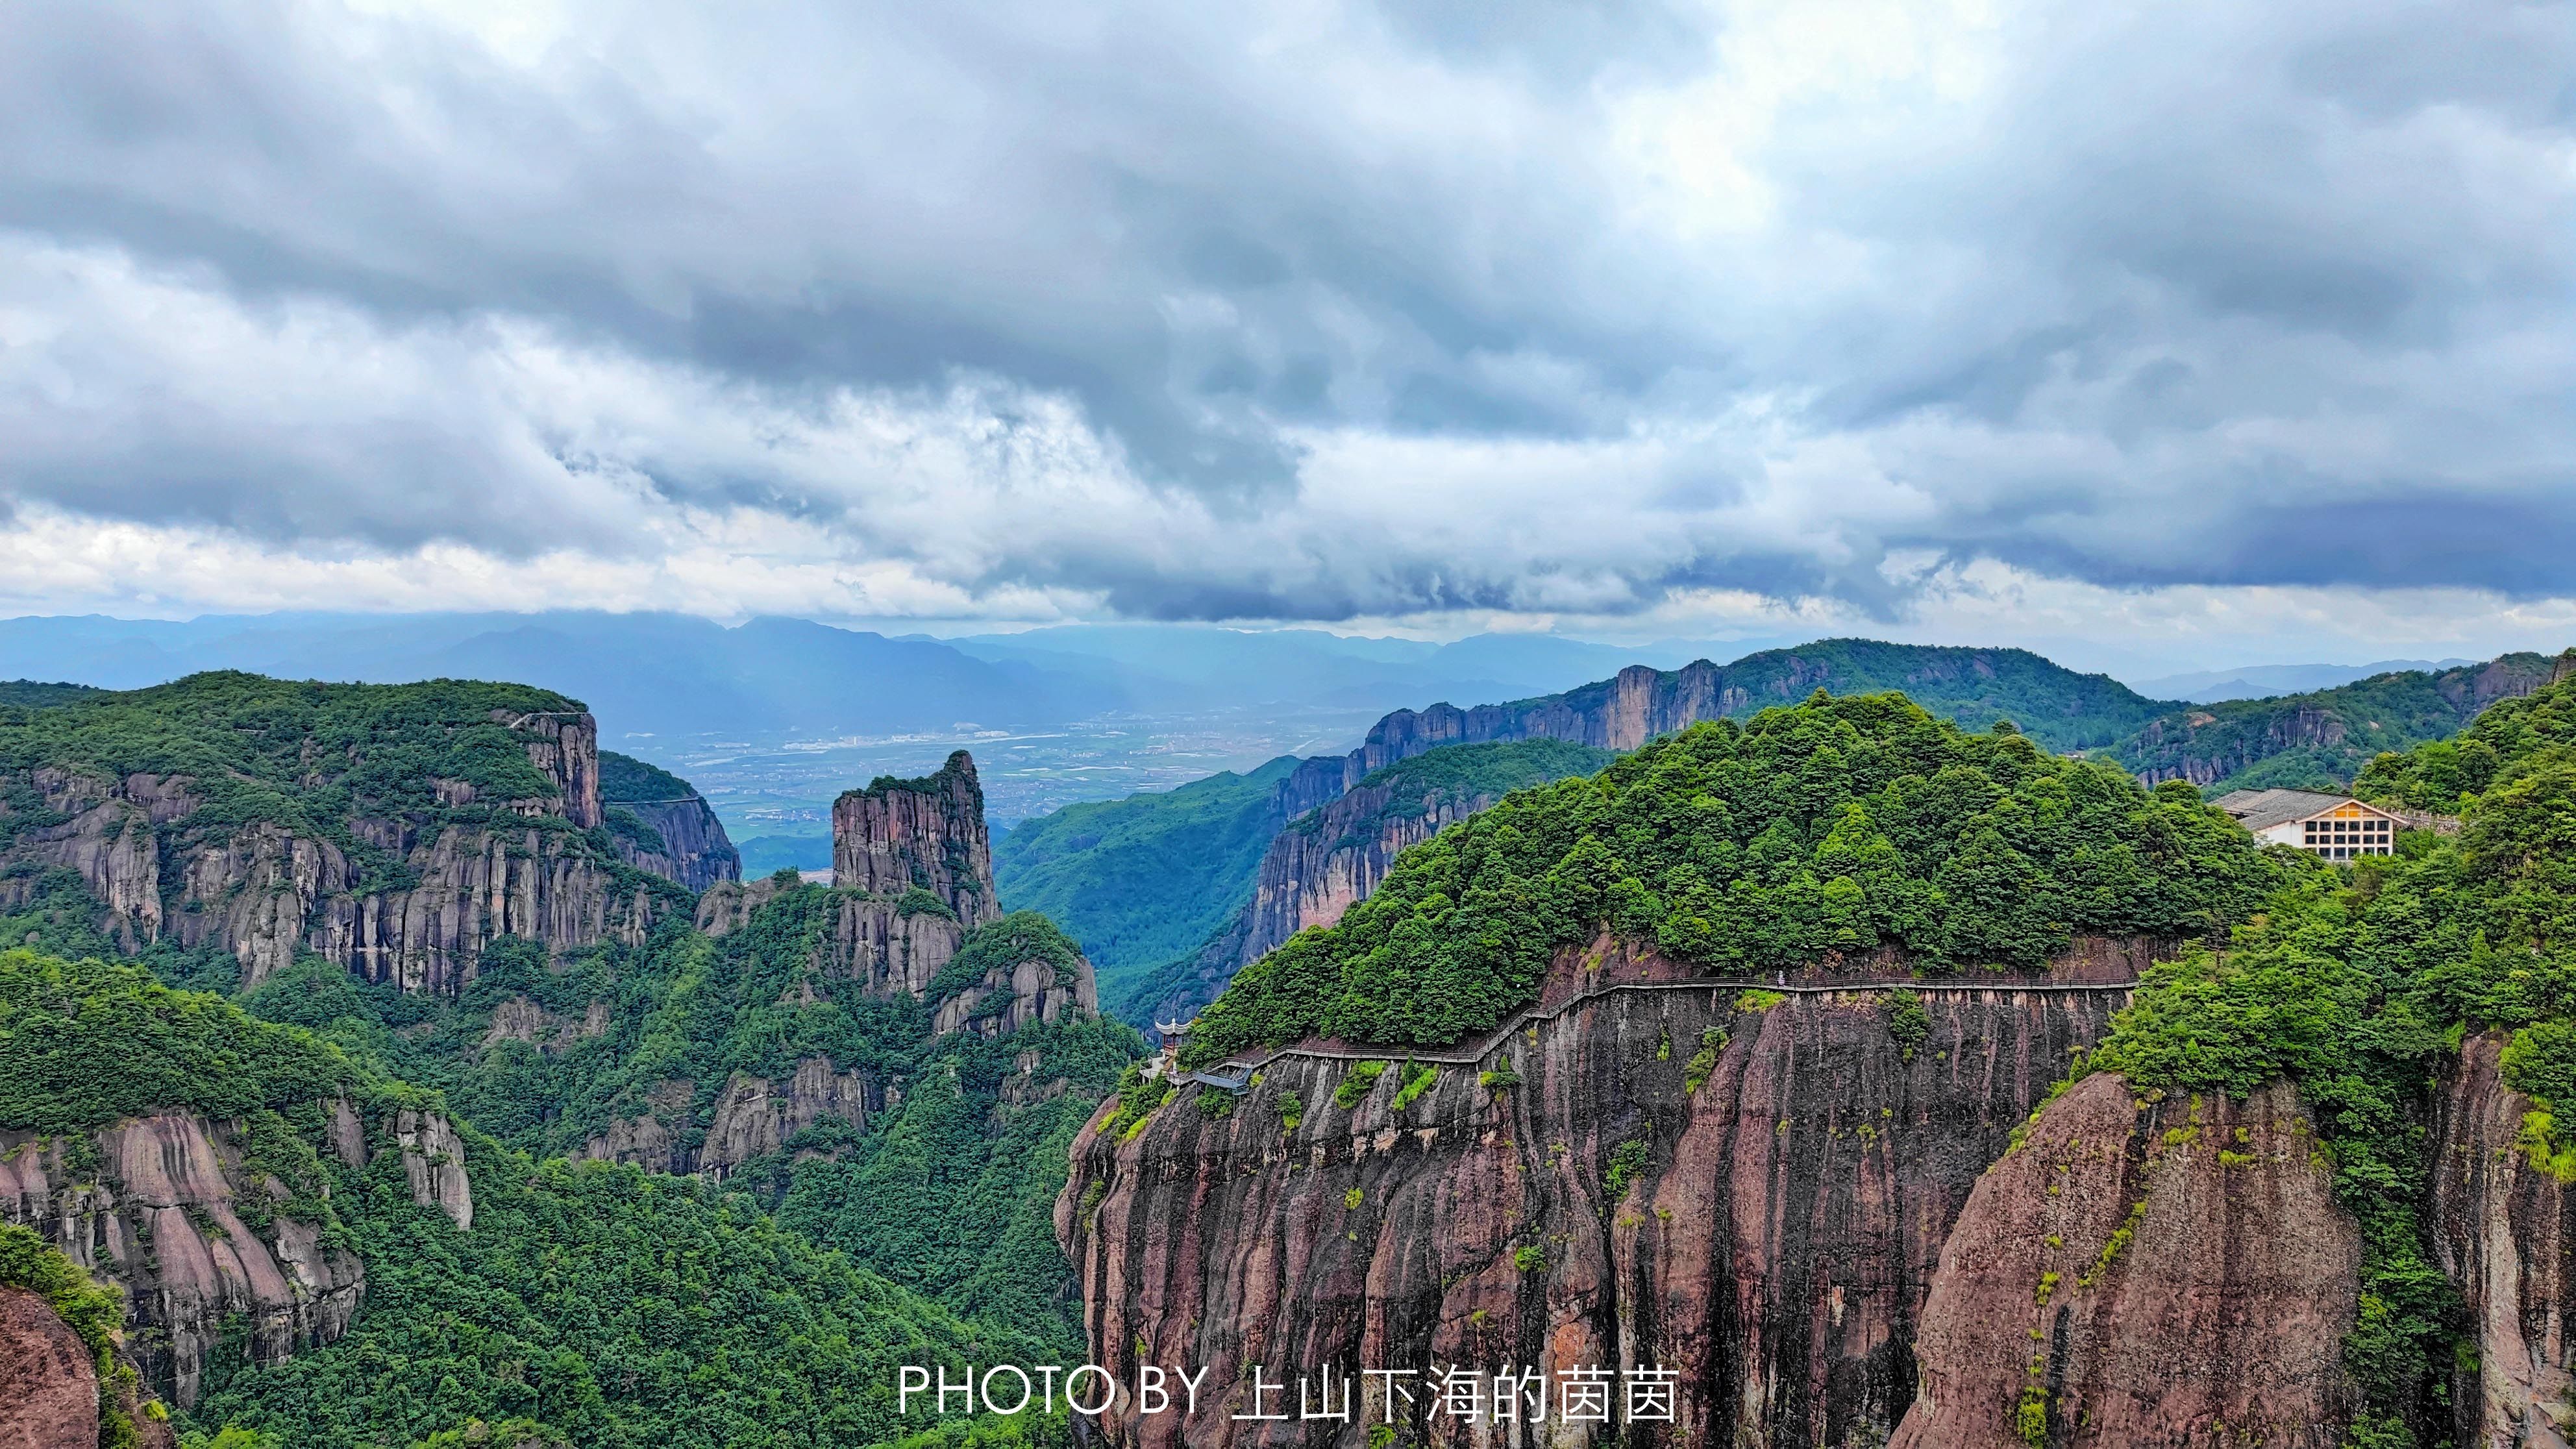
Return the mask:
[[2190,786],[2143,792],[1904,696],[1819,691],[1414,846],[1337,926],[1236,975],[1188,1060],[1309,1034],[1458,1042],[1602,928],[1708,972],[1880,946],[1935,969],[2038,967],[2074,933],[2218,931],[2275,879]]

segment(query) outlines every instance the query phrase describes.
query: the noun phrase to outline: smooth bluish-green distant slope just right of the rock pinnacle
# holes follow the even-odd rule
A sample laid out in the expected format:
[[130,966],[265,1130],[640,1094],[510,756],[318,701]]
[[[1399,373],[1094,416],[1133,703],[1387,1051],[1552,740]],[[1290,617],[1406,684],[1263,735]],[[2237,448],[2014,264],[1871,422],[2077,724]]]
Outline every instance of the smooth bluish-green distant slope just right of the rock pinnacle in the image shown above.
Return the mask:
[[1257,771],[1023,820],[992,843],[1002,905],[1061,923],[1103,990],[1115,990],[1190,951],[1244,905],[1262,848],[1285,825],[1273,792],[1296,766],[1280,755]]

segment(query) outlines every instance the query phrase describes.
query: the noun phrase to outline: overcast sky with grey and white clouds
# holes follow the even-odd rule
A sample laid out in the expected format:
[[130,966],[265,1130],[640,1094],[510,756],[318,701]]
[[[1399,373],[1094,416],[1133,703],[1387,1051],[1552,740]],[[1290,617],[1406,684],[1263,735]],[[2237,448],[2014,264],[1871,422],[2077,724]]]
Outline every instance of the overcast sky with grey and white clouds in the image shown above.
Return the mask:
[[2576,8],[0,8],[0,611],[2576,642]]

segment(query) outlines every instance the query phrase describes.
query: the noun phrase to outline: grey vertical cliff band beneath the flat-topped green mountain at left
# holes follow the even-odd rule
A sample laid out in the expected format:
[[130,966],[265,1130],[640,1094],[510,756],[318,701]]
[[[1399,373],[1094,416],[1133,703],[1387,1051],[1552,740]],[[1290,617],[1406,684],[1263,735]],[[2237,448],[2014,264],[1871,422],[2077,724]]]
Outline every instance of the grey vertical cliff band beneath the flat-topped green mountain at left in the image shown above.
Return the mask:
[[[672,902],[621,884],[587,835],[562,828],[600,822],[590,717],[497,722],[520,737],[559,794],[477,802],[471,786],[440,781],[443,802],[497,804],[559,825],[348,820],[355,843],[399,861],[386,871],[384,861],[353,861],[340,843],[273,820],[198,830],[193,817],[204,797],[188,779],[39,768],[26,781],[59,820],[18,830],[8,856],[77,871],[106,902],[108,931],[129,949],[160,938],[229,949],[245,985],[258,985],[299,949],[404,990],[453,993],[474,977],[495,936],[551,949],[641,944]],[[36,879],[26,874],[0,882],[0,905],[31,890]]]

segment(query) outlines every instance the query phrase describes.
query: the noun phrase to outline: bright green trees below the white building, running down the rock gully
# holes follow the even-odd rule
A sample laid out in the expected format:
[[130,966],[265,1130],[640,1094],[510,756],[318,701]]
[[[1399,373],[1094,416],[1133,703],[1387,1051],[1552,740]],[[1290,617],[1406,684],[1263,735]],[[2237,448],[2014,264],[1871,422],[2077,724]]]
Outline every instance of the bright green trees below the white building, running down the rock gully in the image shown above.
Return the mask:
[[[2401,688],[2416,688],[2411,683]],[[2316,1111],[2336,1199],[2362,1225],[2362,1312],[2344,1366],[2367,1397],[2347,1444],[2447,1441],[2468,1315],[2427,1240],[2427,1083],[2468,1031],[2512,1029],[2504,1078],[2532,1168],[2576,1181],[2555,1114],[2576,1109],[2576,678],[2491,706],[2458,743],[2365,771],[2365,792],[2460,810],[2460,835],[2406,833],[2344,866],[2280,853],[2282,882],[2223,951],[2148,972],[2081,1070],[2133,1091],[2290,1078]],[[2476,1379],[2468,1379],[2476,1385]]]

